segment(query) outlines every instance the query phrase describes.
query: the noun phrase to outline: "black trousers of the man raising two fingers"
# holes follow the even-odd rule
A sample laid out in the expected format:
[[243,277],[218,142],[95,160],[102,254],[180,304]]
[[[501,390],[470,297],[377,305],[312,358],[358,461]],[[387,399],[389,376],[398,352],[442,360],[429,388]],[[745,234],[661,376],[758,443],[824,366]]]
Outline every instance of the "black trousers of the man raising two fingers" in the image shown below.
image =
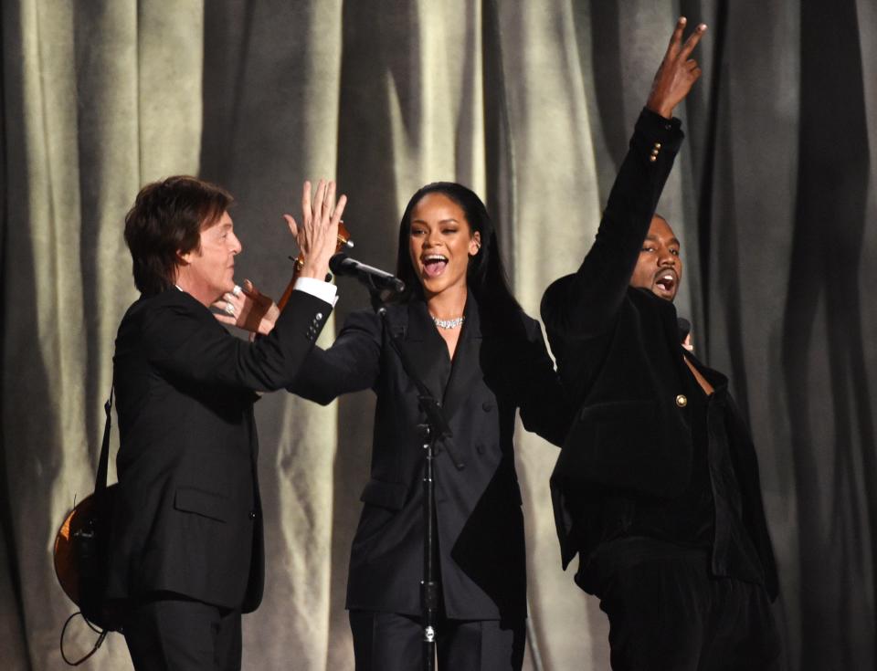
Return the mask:
[[761,585],[710,574],[705,552],[612,571],[597,596],[614,671],[776,669],[779,636]]

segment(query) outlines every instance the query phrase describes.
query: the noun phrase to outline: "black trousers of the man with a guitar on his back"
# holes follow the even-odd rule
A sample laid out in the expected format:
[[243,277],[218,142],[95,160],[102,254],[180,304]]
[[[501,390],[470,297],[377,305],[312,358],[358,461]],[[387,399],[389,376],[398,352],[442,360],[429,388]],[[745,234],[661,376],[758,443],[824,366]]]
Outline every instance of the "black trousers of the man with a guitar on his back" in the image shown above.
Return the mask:
[[155,593],[132,606],[125,643],[136,671],[240,671],[240,611]]

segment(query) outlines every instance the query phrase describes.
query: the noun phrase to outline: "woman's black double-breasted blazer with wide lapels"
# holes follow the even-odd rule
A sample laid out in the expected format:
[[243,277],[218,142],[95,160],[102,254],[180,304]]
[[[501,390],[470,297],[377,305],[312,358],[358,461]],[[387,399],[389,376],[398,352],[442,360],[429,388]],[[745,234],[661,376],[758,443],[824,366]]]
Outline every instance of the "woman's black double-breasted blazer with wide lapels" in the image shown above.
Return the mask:
[[[435,461],[439,562],[445,611],[485,620],[526,614],[521,491],[514,468],[515,409],[523,425],[559,445],[568,412],[538,322],[519,313],[517,333],[494,332],[474,297],[449,360],[426,304],[388,309],[390,330],[431,393],[442,402],[454,456],[439,445]],[[351,549],[347,608],[420,613],[423,564],[424,420],[417,392],[369,311],[346,320],[333,346],[315,348],[291,387],[321,404],[371,388],[377,395],[371,479]],[[447,386],[444,381],[447,380]]]

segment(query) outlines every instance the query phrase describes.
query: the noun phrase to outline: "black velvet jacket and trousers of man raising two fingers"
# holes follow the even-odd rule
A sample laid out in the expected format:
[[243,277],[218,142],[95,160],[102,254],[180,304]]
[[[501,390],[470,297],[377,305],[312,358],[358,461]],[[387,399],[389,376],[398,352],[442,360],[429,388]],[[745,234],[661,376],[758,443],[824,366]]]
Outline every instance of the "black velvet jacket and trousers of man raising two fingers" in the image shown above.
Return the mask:
[[[543,298],[579,408],[552,475],[555,521],[564,566],[579,554],[576,582],[609,614],[614,668],[766,668],[777,574],[755,448],[727,380],[682,348],[672,303],[629,287],[681,142],[679,121],[643,110],[594,246]],[[745,616],[713,618],[735,608]],[[710,666],[734,636],[751,655]]]

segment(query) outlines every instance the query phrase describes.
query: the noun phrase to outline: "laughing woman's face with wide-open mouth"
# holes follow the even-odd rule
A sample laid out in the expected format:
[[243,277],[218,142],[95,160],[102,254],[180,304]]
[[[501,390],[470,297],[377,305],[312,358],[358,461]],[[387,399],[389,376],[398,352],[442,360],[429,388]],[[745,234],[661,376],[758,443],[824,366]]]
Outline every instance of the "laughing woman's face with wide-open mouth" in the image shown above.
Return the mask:
[[466,287],[470,256],[481,235],[471,231],[463,208],[447,195],[423,196],[411,211],[408,251],[427,298],[451,287]]

